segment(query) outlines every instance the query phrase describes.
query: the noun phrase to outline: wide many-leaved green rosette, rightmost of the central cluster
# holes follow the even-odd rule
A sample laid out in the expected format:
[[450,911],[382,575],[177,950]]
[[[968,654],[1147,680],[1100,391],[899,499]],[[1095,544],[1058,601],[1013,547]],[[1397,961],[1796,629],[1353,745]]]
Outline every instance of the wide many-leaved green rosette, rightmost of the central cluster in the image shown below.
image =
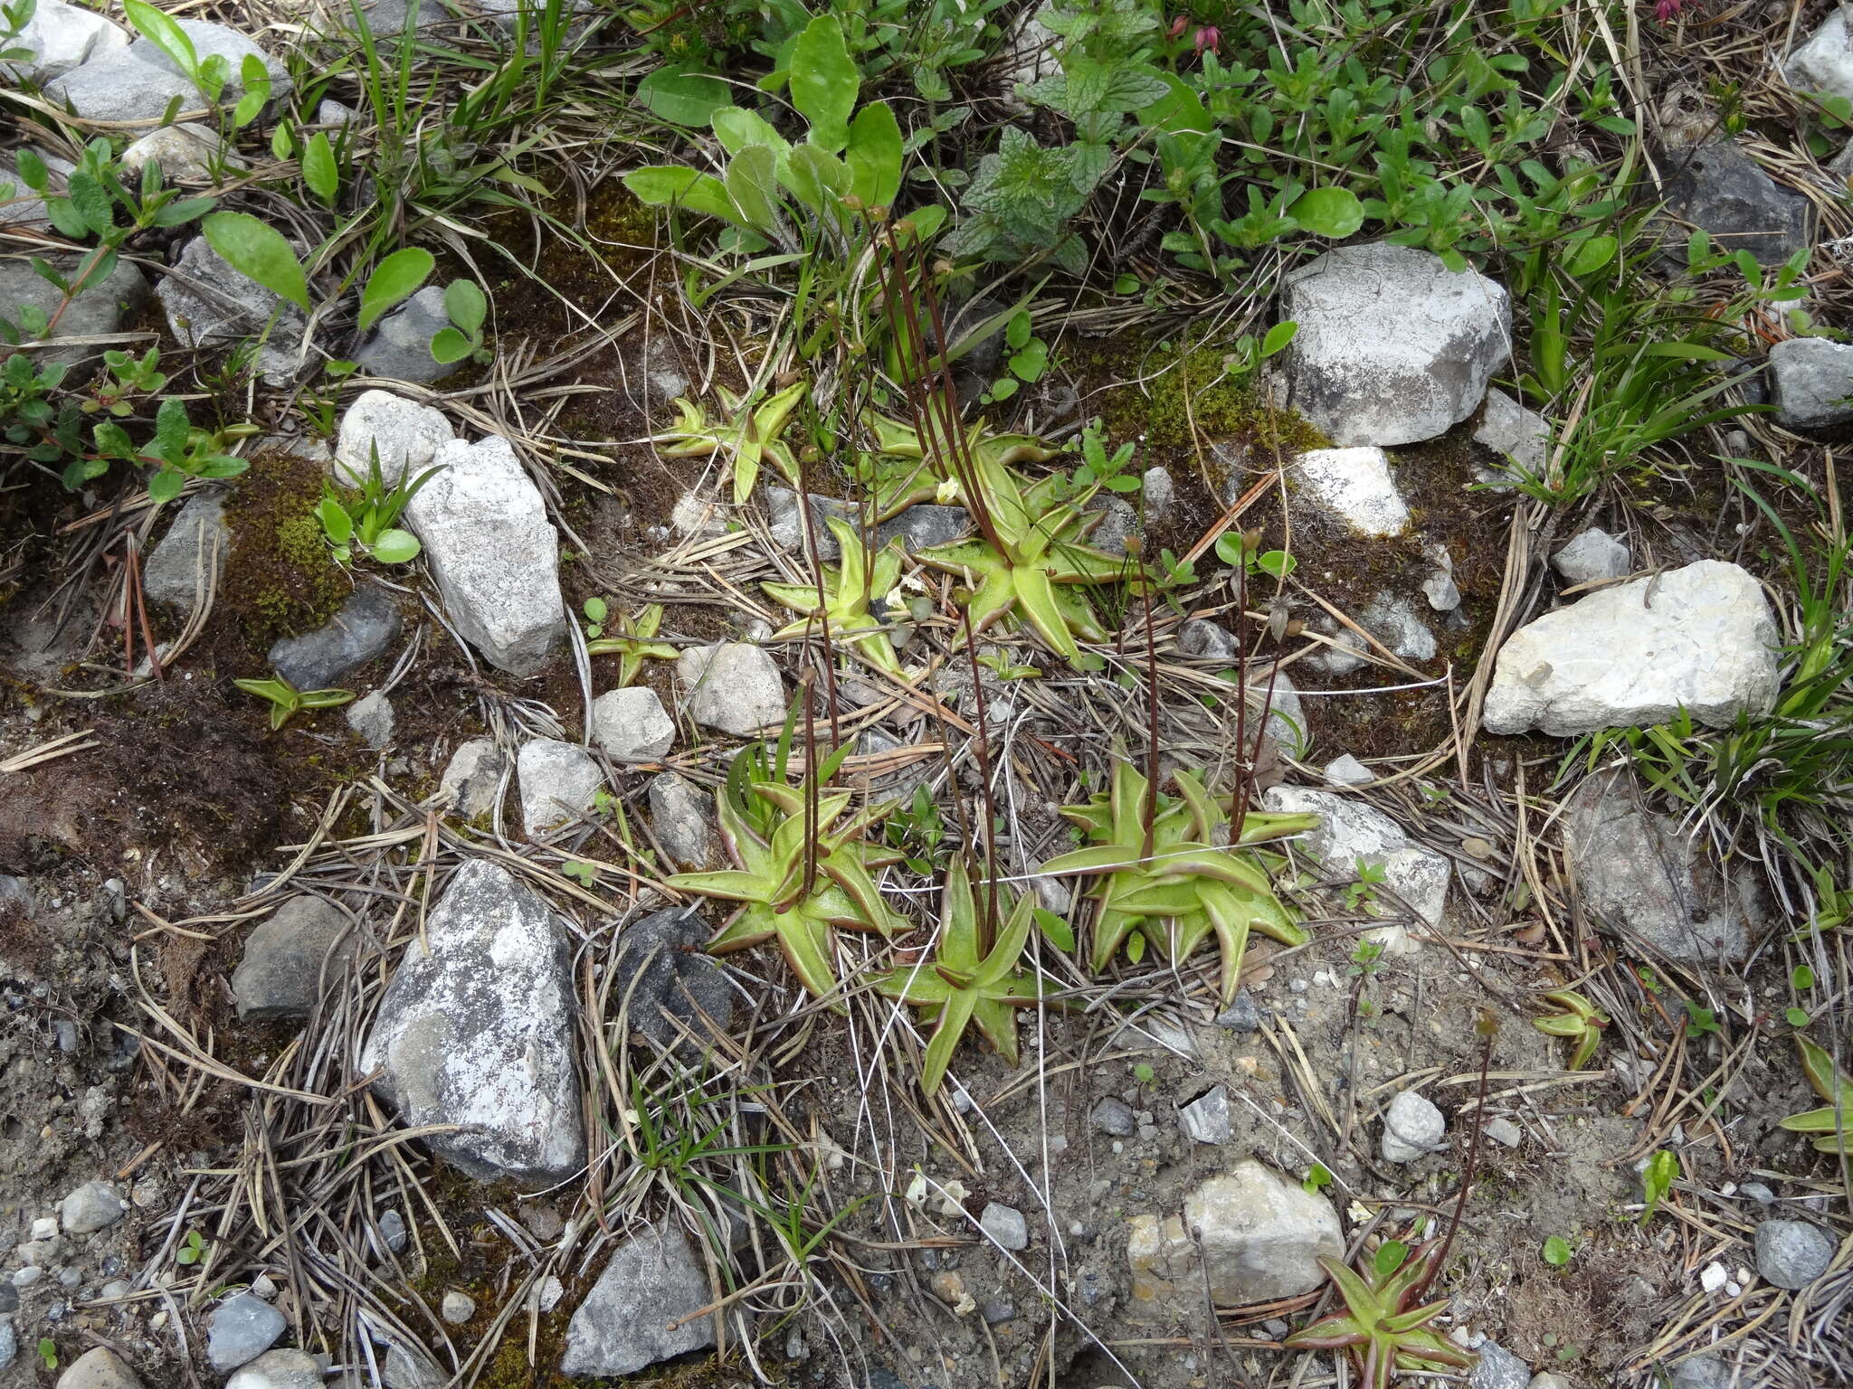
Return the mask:
[[[1227,815],[1190,772],[1173,778],[1179,796],[1154,793],[1127,759],[1114,763],[1112,791],[1086,806],[1064,806],[1062,815],[1082,828],[1088,848],[1062,854],[1043,872],[1095,878],[1091,963],[1106,969],[1132,941],[1151,943],[1167,957],[1186,959],[1212,932],[1223,952],[1221,996],[1236,996],[1249,932],[1282,945],[1310,937],[1273,893],[1253,846],[1317,826],[1314,815],[1251,813],[1230,848],[1212,846]],[[1243,852],[1249,850],[1249,852]]]

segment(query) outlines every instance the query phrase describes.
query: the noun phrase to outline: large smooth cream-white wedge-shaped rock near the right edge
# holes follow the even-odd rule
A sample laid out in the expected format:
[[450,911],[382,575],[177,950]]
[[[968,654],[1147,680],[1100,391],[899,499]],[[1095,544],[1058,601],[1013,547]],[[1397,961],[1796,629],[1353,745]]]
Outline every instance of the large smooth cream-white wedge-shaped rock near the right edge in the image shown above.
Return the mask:
[[1746,570],[1701,559],[1545,613],[1494,663],[1488,733],[1558,737],[1658,724],[1681,707],[1712,728],[1766,713],[1777,689],[1777,630]]

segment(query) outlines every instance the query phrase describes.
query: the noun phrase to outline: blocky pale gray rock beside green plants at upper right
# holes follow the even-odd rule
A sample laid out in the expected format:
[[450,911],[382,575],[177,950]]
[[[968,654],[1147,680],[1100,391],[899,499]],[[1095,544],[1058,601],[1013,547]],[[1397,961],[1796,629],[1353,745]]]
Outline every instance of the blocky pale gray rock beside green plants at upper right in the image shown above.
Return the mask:
[[1434,439],[1481,407],[1512,352],[1512,304],[1477,270],[1414,246],[1325,252],[1292,272],[1293,404],[1336,444]]

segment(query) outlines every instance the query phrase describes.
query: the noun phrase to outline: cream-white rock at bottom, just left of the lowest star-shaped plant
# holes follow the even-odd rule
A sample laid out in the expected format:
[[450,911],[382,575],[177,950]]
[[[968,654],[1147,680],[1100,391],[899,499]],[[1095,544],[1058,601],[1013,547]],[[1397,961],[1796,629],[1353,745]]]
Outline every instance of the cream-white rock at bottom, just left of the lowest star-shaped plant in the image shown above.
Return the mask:
[[1182,1219],[1132,1217],[1134,1315],[1166,1317],[1191,1300],[1201,1315],[1204,1289],[1219,1308],[1299,1296],[1325,1282],[1321,1254],[1345,1256],[1332,1202],[1249,1158],[1184,1196]]

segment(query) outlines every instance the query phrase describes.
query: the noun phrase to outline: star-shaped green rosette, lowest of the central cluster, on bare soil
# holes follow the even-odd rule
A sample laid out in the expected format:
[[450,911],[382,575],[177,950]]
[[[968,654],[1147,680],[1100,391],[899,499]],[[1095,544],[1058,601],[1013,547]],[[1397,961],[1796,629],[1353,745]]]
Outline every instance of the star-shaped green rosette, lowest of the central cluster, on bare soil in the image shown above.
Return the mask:
[[[958,1039],[977,1026],[1006,1063],[1017,1063],[1015,1009],[1032,1007],[1047,993],[1041,974],[1021,967],[1030,939],[1036,898],[1030,893],[1014,904],[997,885],[980,887],[995,895],[980,911],[965,861],[954,857],[945,874],[939,906],[939,943],[932,961],[897,965],[875,987],[936,1019],[926,1056],[921,1061],[921,1091],[936,1095],[952,1063]],[[986,948],[984,922],[1006,917],[995,943]]]

